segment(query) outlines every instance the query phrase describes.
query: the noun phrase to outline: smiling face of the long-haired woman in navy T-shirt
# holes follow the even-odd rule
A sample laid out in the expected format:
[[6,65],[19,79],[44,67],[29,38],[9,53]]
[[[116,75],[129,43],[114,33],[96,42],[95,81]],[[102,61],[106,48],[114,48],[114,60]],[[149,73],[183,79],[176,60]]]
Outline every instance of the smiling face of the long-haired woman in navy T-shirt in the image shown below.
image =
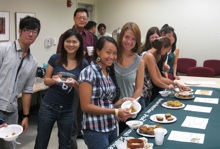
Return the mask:
[[69,54],[76,53],[79,47],[80,47],[80,42],[76,38],[76,36],[70,36],[64,41],[64,49]]

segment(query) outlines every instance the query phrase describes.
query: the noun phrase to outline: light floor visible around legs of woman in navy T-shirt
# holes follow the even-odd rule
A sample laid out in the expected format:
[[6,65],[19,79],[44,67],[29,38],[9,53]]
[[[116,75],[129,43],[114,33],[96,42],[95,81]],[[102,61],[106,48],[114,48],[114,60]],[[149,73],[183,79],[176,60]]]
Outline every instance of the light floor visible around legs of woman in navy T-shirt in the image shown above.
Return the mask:
[[[35,144],[35,138],[37,135],[37,122],[36,116],[31,116],[29,120],[29,129],[25,134],[22,134],[18,137],[17,142],[20,142],[20,145],[17,145],[17,149],[33,149]],[[84,143],[83,139],[77,139],[78,149],[87,149],[87,146]],[[54,125],[48,149],[57,149],[58,148],[58,139],[57,139],[57,126]]]

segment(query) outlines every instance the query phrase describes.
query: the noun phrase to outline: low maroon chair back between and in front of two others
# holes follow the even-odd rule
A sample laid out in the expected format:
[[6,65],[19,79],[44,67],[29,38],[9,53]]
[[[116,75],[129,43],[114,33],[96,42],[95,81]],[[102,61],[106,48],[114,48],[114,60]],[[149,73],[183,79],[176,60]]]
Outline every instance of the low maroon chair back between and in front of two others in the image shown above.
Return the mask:
[[186,72],[187,76],[215,77],[215,71],[208,67],[190,67]]

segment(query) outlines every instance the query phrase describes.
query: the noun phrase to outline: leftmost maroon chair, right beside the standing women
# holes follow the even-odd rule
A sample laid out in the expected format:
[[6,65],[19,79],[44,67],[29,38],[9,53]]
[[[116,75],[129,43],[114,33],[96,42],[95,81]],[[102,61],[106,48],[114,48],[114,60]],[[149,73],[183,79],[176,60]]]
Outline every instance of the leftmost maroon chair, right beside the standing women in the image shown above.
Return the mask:
[[[190,67],[196,66],[196,60],[192,58],[178,58],[177,60],[177,73],[186,74]],[[181,75],[181,74],[179,74]]]

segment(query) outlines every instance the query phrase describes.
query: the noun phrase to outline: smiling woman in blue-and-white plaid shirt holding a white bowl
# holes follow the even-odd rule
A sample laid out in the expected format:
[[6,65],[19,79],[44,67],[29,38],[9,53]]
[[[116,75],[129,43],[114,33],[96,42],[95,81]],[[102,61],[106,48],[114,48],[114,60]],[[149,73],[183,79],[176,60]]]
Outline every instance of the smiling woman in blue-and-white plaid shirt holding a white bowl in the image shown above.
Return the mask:
[[101,37],[94,51],[96,61],[86,67],[79,77],[80,103],[83,113],[84,141],[89,149],[104,149],[117,137],[117,120],[133,116],[121,104],[114,61],[117,43],[112,37]]

